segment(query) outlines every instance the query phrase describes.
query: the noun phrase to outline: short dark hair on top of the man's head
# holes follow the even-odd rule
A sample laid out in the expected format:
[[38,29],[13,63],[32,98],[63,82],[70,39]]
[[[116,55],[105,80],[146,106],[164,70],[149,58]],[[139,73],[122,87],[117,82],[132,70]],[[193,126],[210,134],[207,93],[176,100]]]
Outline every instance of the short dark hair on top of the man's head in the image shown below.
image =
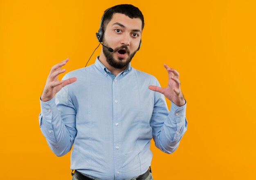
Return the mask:
[[102,20],[102,28],[105,30],[105,27],[108,25],[110,20],[112,19],[113,14],[121,13],[129,18],[139,18],[142,21],[141,30],[144,28],[144,17],[139,8],[133,6],[132,4],[119,4],[104,11],[104,17]]

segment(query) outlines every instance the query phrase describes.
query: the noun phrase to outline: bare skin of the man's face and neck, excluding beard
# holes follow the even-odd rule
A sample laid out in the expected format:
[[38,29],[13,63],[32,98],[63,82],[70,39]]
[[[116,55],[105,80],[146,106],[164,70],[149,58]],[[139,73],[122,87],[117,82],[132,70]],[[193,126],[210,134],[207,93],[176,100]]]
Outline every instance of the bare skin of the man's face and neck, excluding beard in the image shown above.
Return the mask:
[[[124,14],[114,13],[104,31],[104,40],[112,49],[118,49],[119,47],[126,46],[128,48],[127,51],[132,54],[135,53],[139,47],[142,33],[141,28],[141,19],[129,18]],[[112,53],[112,56],[115,61],[128,61],[129,59],[128,53],[126,53],[125,56],[120,56],[120,54],[115,50]],[[110,66],[103,53],[103,47],[101,49],[99,60],[109,71],[115,74],[115,76],[126,68],[117,69]]]

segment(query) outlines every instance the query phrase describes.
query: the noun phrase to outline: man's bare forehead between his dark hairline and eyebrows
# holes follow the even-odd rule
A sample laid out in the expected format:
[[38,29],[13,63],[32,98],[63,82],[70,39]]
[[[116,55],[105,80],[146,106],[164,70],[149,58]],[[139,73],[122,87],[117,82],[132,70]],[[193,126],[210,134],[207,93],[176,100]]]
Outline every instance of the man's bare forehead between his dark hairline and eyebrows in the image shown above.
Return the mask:
[[140,18],[129,18],[129,16],[121,13],[113,14],[112,19],[107,25],[107,28],[114,26],[117,22],[123,24],[127,29],[139,29],[142,31],[142,21]]

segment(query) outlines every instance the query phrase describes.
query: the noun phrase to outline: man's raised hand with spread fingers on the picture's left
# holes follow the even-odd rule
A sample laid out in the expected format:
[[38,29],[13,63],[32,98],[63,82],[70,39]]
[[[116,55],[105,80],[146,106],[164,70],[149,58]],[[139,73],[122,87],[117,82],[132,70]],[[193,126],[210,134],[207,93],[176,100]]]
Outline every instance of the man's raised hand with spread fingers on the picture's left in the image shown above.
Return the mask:
[[66,71],[66,69],[61,69],[61,67],[64,66],[68,62],[68,60],[69,58],[63,60],[62,62],[59,62],[58,64],[55,64],[52,67],[49,76],[47,77],[46,84],[41,96],[41,100],[43,102],[51,100],[52,98],[54,98],[55,94],[61,90],[61,88],[77,80],[76,78],[69,78],[67,80],[61,81],[58,80],[58,75]]

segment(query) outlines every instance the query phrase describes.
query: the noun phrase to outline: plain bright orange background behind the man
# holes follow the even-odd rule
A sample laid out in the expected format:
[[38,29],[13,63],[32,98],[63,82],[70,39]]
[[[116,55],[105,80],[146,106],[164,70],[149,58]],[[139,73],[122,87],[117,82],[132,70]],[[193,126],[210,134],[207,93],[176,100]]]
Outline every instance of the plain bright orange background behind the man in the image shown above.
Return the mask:
[[85,66],[103,11],[121,3],[145,18],[132,66],[163,87],[162,64],[177,69],[187,100],[178,149],[152,143],[154,179],[256,179],[255,0],[0,0],[1,179],[71,179],[70,153],[56,157],[39,129],[39,97],[52,65]]

